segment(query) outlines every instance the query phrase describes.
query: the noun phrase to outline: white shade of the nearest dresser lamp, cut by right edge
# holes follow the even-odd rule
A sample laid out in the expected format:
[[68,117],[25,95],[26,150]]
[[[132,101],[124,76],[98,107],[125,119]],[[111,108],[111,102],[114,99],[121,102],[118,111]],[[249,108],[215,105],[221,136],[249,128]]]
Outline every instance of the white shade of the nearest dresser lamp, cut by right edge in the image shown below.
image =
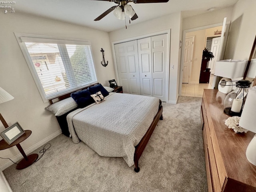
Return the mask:
[[256,86],[249,89],[239,126],[256,133]]

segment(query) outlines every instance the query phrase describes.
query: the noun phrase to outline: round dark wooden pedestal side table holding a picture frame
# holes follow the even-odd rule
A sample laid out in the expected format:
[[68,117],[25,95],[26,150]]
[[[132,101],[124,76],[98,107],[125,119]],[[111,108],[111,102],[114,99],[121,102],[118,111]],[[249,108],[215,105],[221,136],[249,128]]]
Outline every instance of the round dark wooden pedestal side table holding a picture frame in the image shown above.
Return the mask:
[[17,140],[15,140],[10,145],[6,143],[3,139],[0,140],[0,150],[8,149],[16,145],[22,156],[24,157],[20,162],[17,164],[16,169],[24,169],[30,165],[32,165],[38,158],[38,154],[30,154],[29,156],[26,156],[24,150],[20,146],[20,143],[24,141],[26,138],[28,138],[31,135],[31,130],[25,130],[25,133],[20,136]]

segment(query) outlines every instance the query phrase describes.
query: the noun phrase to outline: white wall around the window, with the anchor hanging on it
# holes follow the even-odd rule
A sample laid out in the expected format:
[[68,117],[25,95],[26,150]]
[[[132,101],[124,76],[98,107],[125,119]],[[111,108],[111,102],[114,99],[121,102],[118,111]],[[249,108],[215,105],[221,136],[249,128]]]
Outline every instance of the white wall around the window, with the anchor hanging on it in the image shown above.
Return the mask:
[[[42,145],[54,133],[56,136],[60,127],[54,115],[44,110],[48,103],[42,101],[14,32],[90,40],[98,82],[103,85],[108,85],[108,80],[115,78],[111,44],[107,32],[18,12],[0,14],[0,26],[0,87],[14,96],[13,100],[0,104],[0,113],[9,125],[18,121],[24,130],[32,130],[32,135],[21,143],[26,152],[38,143]],[[106,67],[100,64],[101,48],[108,60]],[[0,123],[0,130],[3,129]],[[18,155],[20,152],[12,147],[2,150],[0,156],[13,159]],[[9,162],[0,159],[0,168]]]

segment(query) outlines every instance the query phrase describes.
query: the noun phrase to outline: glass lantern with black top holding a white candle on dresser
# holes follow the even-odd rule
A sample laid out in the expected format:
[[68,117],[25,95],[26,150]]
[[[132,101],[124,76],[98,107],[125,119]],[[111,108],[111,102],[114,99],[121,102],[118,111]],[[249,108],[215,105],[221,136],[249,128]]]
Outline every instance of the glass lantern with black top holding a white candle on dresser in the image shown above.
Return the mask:
[[230,116],[241,116],[244,102],[250,88],[251,82],[248,80],[240,80],[236,82],[236,89],[224,99],[224,112]]

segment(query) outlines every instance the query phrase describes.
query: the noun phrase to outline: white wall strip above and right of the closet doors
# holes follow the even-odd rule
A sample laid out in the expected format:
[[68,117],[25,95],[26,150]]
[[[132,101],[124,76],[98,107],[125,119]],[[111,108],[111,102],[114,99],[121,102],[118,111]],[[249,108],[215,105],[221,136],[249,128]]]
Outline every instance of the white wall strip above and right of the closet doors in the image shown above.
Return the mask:
[[174,65],[174,70],[170,69],[169,79],[169,102],[175,103],[178,97],[179,85],[179,42],[181,28],[181,14],[180,12],[163,16],[146,22],[135,25],[127,25],[127,29],[122,28],[109,33],[110,42],[150,34],[162,30],[171,29],[171,42],[170,42],[170,65]]

